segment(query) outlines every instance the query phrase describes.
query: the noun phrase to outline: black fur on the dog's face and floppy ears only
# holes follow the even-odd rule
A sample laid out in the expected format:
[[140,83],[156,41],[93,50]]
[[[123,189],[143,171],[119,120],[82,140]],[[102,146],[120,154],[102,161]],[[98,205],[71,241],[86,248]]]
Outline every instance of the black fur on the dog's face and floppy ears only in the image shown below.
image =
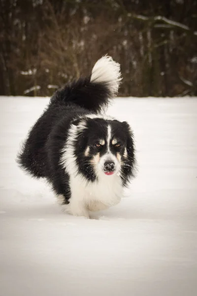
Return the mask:
[[[113,145],[110,147],[110,151],[116,155],[119,152],[123,158],[121,179],[123,185],[126,186],[131,177],[134,177],[134,165],[135,165],[135,155],[134,155],[134,137],[131,132],[129,124],[124,121],[120,122],[118,120],[104,120],[102,118],[86,119],[87,129],[81,133],[75,142],[75,156],[78,163],[78,171],[83,176],[87,178],[88,181],[96,181],[97,175],[92,170],[92,166],[87,166],[87,161],[92,159],[92,156],[99,152],[99,155],[104,155],[106,151],[106,145],[104,147],[96,148],[95,143],[98,139],[107,138],[107,126],[108,124],[112,127],[112,137],[119,139],[121,143],[121,148],[115,148]],[[85,148],[90,147],[90,156],[84,156]],[[124,157],[124,148],[127,148],[128,157]]]

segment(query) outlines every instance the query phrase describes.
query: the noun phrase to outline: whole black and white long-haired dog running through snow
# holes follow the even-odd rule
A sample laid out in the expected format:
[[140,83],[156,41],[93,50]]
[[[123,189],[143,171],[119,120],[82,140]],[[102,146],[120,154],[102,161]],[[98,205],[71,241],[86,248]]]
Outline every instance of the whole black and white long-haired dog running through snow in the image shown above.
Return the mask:
[[18,155],[23,169],[51,183],[72,215],[89,217],[116,205],[133,177],[129,124],[101,114],[120,80],[120,65],[109,56],[99,59],[90,76],[52,96]]

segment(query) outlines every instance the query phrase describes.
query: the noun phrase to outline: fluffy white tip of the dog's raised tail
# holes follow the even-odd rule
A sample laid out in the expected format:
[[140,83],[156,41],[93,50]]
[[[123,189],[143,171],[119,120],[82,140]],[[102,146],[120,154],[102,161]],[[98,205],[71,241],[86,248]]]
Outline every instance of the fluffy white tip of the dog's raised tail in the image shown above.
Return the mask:
[[120,64],[107,55],[99,59],[92,70],[91,81],[105,82],[112,96],[117,94],[121,79]]

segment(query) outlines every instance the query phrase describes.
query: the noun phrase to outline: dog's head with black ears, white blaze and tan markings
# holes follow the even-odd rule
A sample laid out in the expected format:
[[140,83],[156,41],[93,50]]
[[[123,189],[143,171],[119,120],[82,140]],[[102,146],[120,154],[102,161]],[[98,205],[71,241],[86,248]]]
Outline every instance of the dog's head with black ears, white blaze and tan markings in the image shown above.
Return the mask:
[[86,117],[75,120],[73,125],[73,153],[78,172],[89,181],[101,176],[111,178],[118,175],[126,185],[133,176],[135,161],[129,124],[126,121]]

